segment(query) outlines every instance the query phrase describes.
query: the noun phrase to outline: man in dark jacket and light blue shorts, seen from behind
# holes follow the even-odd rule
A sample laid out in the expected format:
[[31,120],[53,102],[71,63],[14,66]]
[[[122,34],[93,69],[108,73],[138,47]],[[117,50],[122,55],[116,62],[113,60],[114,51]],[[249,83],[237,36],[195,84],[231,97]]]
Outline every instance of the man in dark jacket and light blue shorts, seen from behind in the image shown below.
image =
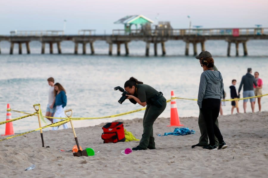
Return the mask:
[[[242,77],[241,83],[239,85],[238,94],[240,93],[242,89],[242,85],[243,85],[243,98],[255,96],[255,93],[253,90],[253,84],[257,86],[257,82],[251,73],[252,73],[252,69],[247,68],[247,74]],[[247,101],[248,99],[243,100],[244,113],[246,113]],[[250,98],[250,105],[251,105],[252,112],[254,112],[254,109],[255,109],[254,102],[255,102],[255,98]]]

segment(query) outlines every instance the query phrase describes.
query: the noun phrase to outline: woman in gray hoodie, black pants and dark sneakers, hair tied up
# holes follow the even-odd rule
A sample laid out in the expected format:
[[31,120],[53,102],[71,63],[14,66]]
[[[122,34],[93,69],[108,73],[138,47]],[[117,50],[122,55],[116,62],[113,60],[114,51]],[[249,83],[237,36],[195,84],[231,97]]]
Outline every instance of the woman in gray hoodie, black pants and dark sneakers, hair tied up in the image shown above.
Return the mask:
[[218,149],[225,149],[227,145],[223,140],[219,128],[215,124],[219,116],[220,102],[223,94],[222,74],[212,69],[214,66],[213,58],[202,58],[201,66],[204,72],[200,77],[197,104],[204,116],[209,139],[209,145],[203,148],[209,150],[217,149],[214,138],[215,134],[219,140]]

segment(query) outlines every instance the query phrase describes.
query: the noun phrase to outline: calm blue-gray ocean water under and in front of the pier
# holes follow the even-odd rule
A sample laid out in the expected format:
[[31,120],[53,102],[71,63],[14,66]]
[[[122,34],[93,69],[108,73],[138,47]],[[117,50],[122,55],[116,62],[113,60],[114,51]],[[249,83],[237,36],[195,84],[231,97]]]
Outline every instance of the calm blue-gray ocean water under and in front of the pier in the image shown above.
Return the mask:
[[[238,90],[241,77],[251,67],[260,73],[263,80],[263,94],[268,93],[268,41],[256,40],[247,43],[248,56],[243,57],[242,45],[239,46],[240,57],[235,57],[235,46],[231,46],[232,57],[226,57],[227,42],[208,41],[206,50],[214,57],[215,65],[221,71],[224,80],[226,99],[230,98],[231,80],[236,79]],[[198,86],[202,67],[193,56],[193,48],[190,45],[190,55],[184,56],[185,43],[182,41],[166,42],[166,56],[161,56],[161,46],[158,45],[159,56],[153,56],[153,45],[150,47],[150,57],[145,57],[145,43],[131,42],[129,44],[130,55],[124,56],[124,46],[121,46],[121,56],[116,54],[116,45],[113,46],[112,56],[107,55],[108,44],[95,42],[96,55],[90,55],[90,47],[87,46],[87,55],[82,55],[82,46],[79,46],[78,55],[73,55],[74,44],[62,43],[61,55],[56,54],[54,46],[53,55],[41,55],[41,44],[31,42],[31,54],[26,54],[23,46],[23,55],[18,55],[18,47],[15,45],[14,55],[9,55],[9,42],[0,42],[0,121],[6,120],[7,103],[11,109],[24,112],[35,112],[33,104],[41,104],[45,114],[48,102],[48,77],[54,77],[66,89],[66,109],[73,110],[73,117],[102,117],[115,115],[122,112],[140,109],[142,106],[125,101],[119,104],[121,92],[114,91],[116,86],[124,86],[124,82],[130,77],[136,77],[145,84],[151,85],[158,91],[162,91],[167,99],[170,99],[173,90],[176,97],[197,98]],[[198,45],[198,52],[201,47]],[[46,53],[49,52],[46,46]],[[241,92],[242,94],[242,92]],[[268,96],[261,99],[262,111],[268,110]],[[179,117],[197,117],[199,109],[196,101],[176,100]],[[242,101],[239,101],[240,112],[243,112]],[[226,102],[223,106],[223,114],[230,114],[231,104]],[[258,106],[255,107],[258,111]],[[247,112],[251,112],[250,103],[247,104]],[[236,110],[234,111],[236,113]],[[96,125],[102,122],[110,122],[116,119],[142,118],[144,111],[129,115],[97,120],[74,120],[75,127]],[[12,112],[12,118],[24,114]],[[170,104],[160,117],[170,117]],[[187,118],[186,118],[187,119]],[[183,123],[183,119],[180,120]],[[49,123],[49,121],[48,121]],[[43,124],[42,124],[43,125]],[[70,125],[69,125],[70,126]],[[27,117],[13,122],[15,133],[30,131],[38,128],[37,117]],[[101,128],[100,128],[101,129]],[[51,130],[46,128],[44,130]],[[0,125],[0,134],[5,132],[5,125]]]

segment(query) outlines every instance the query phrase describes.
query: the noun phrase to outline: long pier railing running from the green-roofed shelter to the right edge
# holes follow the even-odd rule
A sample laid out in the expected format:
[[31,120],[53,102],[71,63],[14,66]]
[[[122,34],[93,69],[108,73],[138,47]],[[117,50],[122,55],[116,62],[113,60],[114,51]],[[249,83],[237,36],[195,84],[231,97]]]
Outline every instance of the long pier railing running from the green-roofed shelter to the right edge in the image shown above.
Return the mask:
[[133,29],[125,31],[124,29],[115,29],[112,31],[114,35],[153,35],[153,36],[214,36],[214,35],[268,35],[268,28],[191,28],[191,29]]

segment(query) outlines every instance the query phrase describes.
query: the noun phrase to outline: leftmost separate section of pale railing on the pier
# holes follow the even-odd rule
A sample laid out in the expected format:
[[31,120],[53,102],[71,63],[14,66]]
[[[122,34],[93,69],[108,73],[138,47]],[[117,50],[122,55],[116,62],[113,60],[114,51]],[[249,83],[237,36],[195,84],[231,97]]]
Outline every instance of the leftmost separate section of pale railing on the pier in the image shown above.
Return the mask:
[[14,30],[10,31],[11,36],[55,36],[64,35],[63,30]]

